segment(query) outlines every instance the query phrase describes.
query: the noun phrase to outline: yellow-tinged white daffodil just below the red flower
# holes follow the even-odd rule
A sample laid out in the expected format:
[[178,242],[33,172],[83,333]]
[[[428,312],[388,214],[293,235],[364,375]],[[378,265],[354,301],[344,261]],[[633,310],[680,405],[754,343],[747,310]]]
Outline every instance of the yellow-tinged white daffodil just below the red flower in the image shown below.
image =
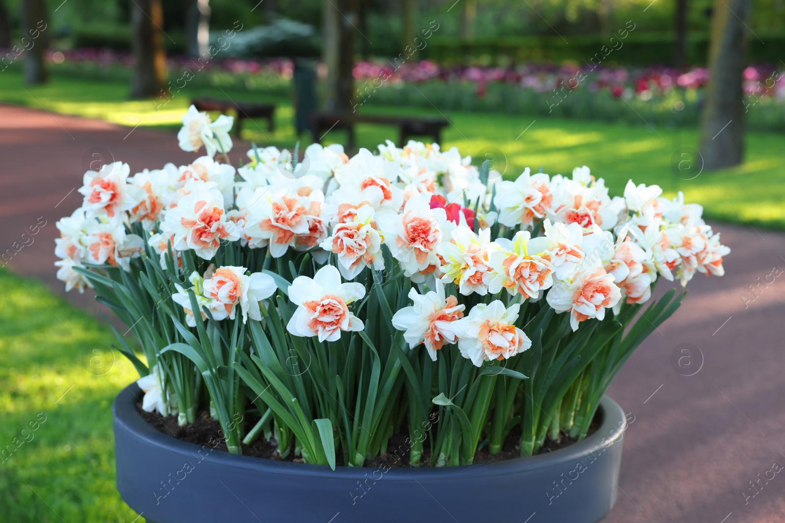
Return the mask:
[[485,296],[491,281],[490,245],[490,229],[484,229],[478,235],[466,225],[455,227],[450,241],[442,242],[436,249],[442,259],[440,280],[455,283],[464,296],[472,292]]

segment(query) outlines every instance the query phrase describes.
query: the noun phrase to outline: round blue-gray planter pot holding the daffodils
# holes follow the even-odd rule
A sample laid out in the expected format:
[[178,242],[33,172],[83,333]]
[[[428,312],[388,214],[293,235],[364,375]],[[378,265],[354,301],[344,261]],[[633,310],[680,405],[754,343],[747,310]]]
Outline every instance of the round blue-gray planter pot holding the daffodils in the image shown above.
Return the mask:
[[624,412],[566,449],[444,468],[350,468],[270,461],[170,438],[137,412],[133,384],[112,405],[117,488],[156,523],[596,523],[616,500]]

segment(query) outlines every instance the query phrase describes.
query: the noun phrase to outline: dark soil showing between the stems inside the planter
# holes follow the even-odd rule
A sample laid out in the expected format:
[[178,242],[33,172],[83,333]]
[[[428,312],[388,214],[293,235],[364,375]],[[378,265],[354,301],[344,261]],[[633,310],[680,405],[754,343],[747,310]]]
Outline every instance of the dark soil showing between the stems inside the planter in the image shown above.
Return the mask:
[[[184,425],[180,427],[177,424],[177,416],[159,416],[155,412],[144,412],[141,409],[141,401],[137,401],[137,410],[142,417],[147,420],[153,427],[158,429],[167,436],[172,436],[182,441],[188,441],[195,445],[207,445],[213,449],[218,449],[226,452],[226,443],[221,438],[221,424],[210,417],[210,412],[207,410],[199,411],[196,414],[195,423]],[[250,416],[248,416],[250,418]],[[246,433],[254,427],[258,419],[245,419]],[[599,419],[594,418],[589,428],[589,434],[593,434],[600,427]],[[507,434],[507,438],[502,445],[501,452],[491,454],[488,452],[487,445],[480,444],[480,449],[474,455],[473,463],[495,463],[498,461],[506,461],[507,459],[515,459],[520,457],[520,426],[513,427]],[[366,467],[409,467],[409,450],[410,445],[407,443],[407,434],[396,434],[390,438],[388,443],[387,452],[365,463]],[[539,450],[539,454],[546,454],[554,450],[563,449],[573,443],[576,438],[570,438],[567,434],[561,434],[560,438],[553,440],[549,437],[546,438],[545,444]],[[430,462],[430,452],[428,449],[427,440],[424,443],[424,449],[421,459],[421,467],[428,467]],[[397,451],[397,452],[396,452]],[[254,456],[263,459],[274,459],[276,461],[290,461],[294,463],[302,463],[302,458],[295,458],[292,454],[286,458],[281,458],[278,455],[278,447],[275,442],[266,441],[265,438],[258,438],[253,444],[243,445],[243,456]],[[343,456],[339,453],[336,457],[336,464],[343,465]]]

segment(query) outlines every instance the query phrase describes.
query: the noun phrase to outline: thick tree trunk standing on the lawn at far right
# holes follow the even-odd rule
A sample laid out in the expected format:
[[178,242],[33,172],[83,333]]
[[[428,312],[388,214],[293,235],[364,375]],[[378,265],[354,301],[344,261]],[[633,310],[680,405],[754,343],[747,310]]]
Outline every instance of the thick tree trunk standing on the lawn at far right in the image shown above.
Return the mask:
[[[727,2],[727,3],[726,3]],[[711,79],[703,107],[700,153],[705,169],[739,165],[744,151],[742,73],[751,0],[717,0],[711,30]]]

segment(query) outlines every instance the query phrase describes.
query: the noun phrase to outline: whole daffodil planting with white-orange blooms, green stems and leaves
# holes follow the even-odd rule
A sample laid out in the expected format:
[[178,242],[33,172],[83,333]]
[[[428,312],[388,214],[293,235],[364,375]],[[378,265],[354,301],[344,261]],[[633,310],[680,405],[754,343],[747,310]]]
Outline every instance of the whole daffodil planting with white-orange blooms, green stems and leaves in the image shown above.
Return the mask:
[[723,274],[703,209],[656,186],[612,196],[586,166],[502,180],[416,141],[254,146],[235,169],[231,125],[191,107],[180,146],[206,155],[85,173],[55,249],[66,288],[92,286],[137,339],[142,409],[185,425],[209,405],[229,452],[274,438],[281,457],[361,467],[408,426],[417,466],[413,427],[438,413],[432,466],[499,452],[517,423],[531,456],[588,433],[610,377],[593,358],[619,365],[679,306],[671,289],[637,316],[658,278]]

